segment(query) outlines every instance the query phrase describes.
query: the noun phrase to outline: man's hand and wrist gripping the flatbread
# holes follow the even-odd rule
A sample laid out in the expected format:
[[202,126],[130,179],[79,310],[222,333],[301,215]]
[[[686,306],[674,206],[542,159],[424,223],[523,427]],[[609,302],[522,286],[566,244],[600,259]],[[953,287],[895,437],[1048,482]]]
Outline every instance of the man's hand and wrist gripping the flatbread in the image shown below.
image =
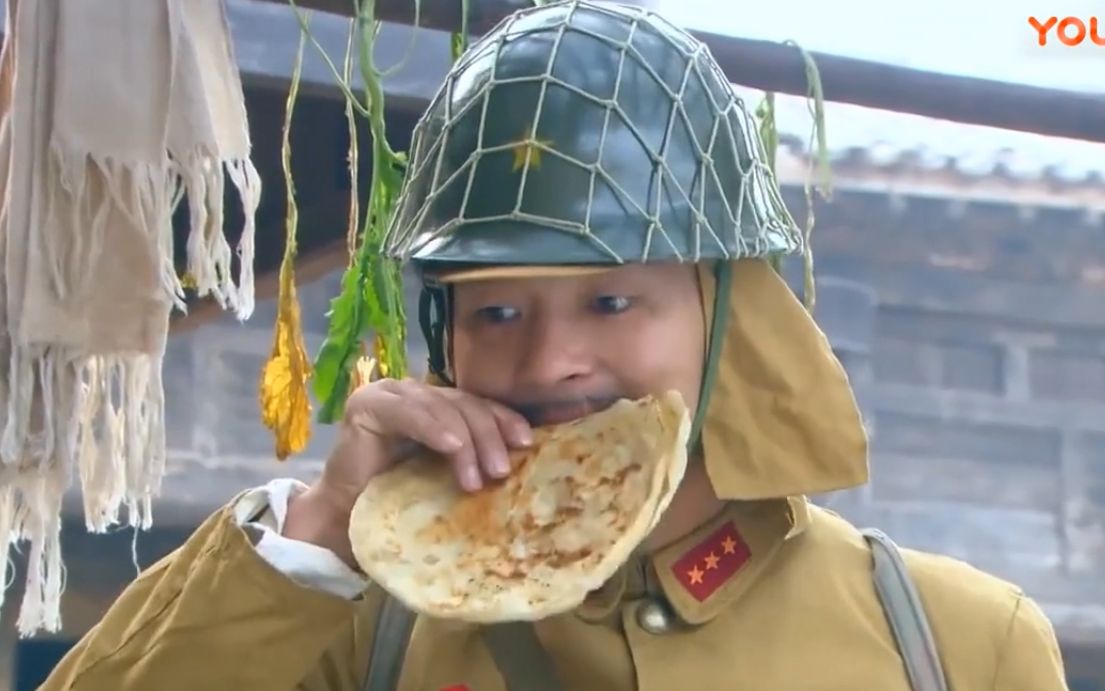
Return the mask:
[[346,402],[323,475],[288,504],[284,535],[355,566],[349,513],[375,475],[424,447],[446,459],[461,488],[475,491],[509,474],[508,449],[530,443],[529,423],[501,404],[410,379],[373,381]]

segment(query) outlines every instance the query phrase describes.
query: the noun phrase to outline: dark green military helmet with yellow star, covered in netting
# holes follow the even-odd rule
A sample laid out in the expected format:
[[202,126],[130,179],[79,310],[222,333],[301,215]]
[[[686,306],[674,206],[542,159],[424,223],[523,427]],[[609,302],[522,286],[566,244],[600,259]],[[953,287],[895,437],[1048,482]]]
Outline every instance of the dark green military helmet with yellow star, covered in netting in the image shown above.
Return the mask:
[[420,268],[736,260],[802,249],[706,46],[649,10],[515,12],[414,128],[387,254]]

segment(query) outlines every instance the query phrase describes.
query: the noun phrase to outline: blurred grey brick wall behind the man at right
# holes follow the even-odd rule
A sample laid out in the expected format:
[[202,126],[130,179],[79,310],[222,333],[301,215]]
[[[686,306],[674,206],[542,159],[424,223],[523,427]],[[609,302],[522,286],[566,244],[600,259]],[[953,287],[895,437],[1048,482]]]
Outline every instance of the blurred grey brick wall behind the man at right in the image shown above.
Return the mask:
[[846,192],[817,218],[815,315],[872,451],[867,486],[818,501],[1012,579],[1066,640],[1105,642],[1105,228]]

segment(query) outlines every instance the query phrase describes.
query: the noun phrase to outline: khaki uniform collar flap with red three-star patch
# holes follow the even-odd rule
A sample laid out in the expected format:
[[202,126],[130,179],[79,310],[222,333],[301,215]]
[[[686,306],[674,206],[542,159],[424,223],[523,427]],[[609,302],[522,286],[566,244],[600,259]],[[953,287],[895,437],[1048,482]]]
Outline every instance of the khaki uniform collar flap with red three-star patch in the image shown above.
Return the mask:
[[747,591],[779,547],[804,532],[809,522],[804,496],[733,502],[654,553],[652,573],[680,619],[705,624]]

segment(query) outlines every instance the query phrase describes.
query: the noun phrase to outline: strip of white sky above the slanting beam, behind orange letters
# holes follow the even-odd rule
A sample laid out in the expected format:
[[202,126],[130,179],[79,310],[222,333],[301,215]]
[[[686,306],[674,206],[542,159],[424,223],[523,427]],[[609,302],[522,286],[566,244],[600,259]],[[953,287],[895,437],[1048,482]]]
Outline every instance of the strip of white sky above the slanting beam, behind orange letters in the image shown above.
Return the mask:
[[[1105,93],[1105,46],[1036,45],[1028,18],[1103,20],[1094,0],[655,0],[686,28],[922,70]],[[726,8],[722,10],[720,8]]]

